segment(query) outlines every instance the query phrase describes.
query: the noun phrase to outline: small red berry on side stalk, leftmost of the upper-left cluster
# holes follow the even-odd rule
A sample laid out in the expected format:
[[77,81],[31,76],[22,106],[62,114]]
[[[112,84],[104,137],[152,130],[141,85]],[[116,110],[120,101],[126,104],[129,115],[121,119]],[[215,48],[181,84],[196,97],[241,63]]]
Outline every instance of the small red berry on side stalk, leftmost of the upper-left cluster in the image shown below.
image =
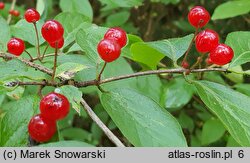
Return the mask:
[[7,43],[7,48],[9,53],[14,54],[16,56],[20,56],[25,50],[25,44],[23,40],[19,38],[12,38]]

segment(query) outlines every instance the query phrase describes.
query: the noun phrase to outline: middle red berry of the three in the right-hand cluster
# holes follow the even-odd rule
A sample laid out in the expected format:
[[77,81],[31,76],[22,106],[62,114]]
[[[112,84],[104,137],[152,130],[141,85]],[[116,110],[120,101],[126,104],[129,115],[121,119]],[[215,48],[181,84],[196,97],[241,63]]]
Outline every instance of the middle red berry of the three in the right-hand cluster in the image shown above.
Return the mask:
[[195,39],[195,46],[198,52],[207,53],[216,48],[219,44],[219,35],[210,29],[201,31]]

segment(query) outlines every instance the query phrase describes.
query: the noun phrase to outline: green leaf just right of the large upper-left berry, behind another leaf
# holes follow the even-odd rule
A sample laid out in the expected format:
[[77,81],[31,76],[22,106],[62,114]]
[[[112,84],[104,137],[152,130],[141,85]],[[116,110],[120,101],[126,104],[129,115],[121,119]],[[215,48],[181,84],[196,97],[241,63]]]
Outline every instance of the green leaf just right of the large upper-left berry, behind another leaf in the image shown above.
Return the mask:
[[[75,35],[80,28],[90,26],[91,20],[79,13],[62,12],[55,17],[55,20],[63,24],[64,27],[64,47],[75,40]],[[70,23],[69,23],[70,22]]]

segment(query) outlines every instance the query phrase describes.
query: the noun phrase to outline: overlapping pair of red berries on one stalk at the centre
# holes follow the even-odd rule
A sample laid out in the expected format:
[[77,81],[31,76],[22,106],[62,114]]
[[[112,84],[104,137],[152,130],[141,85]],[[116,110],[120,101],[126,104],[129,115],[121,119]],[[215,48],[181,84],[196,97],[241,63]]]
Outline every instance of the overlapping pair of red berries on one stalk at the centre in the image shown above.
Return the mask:
[[97,45],[97,51],[105,62],[113,62],[119,58],[121,48],[127,44],[127,34],[121,28],[110,28],[104,39]]

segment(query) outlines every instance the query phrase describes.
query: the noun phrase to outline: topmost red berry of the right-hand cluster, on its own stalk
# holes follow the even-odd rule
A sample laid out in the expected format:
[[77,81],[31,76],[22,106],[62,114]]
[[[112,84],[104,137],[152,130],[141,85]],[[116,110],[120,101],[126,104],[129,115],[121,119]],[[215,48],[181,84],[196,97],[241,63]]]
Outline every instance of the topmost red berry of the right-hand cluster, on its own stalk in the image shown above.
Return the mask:
[[209,20],[209,12],[201,6],[193,7],[188,13],[189,23],[196,28],[204,27],[209,22]]

